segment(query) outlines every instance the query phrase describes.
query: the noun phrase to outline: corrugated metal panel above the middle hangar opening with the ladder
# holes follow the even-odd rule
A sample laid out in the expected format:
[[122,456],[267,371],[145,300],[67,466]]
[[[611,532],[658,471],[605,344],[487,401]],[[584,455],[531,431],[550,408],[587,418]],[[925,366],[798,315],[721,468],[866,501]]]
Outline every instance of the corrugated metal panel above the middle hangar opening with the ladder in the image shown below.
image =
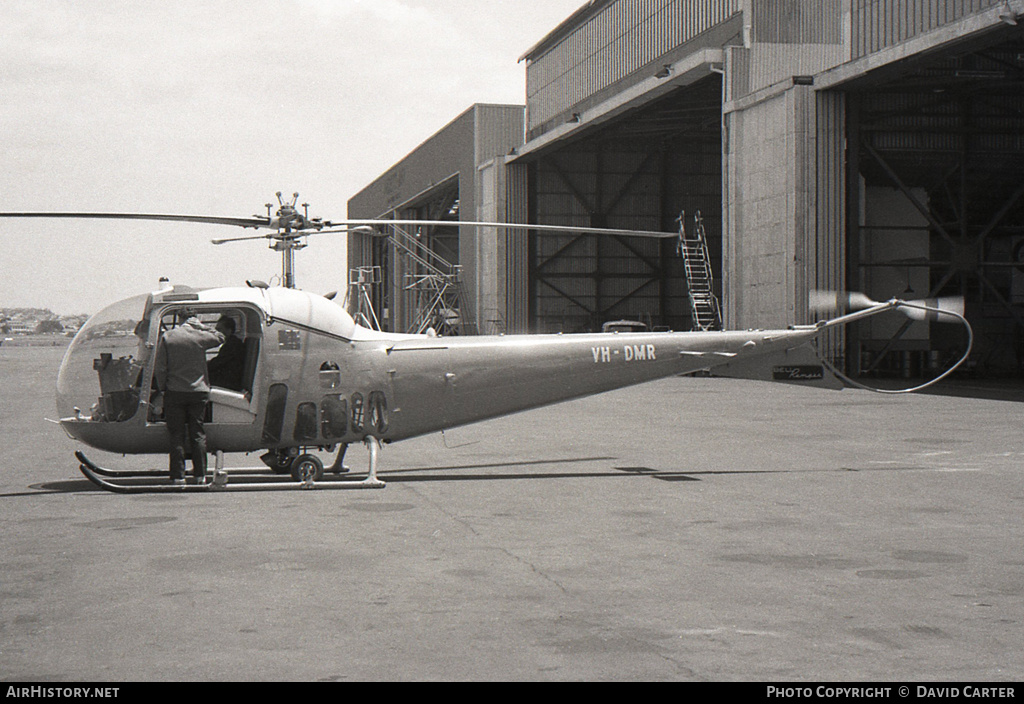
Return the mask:
[[617,0],[526,65],[528,138],[573,105],[739,12],[739,0]]

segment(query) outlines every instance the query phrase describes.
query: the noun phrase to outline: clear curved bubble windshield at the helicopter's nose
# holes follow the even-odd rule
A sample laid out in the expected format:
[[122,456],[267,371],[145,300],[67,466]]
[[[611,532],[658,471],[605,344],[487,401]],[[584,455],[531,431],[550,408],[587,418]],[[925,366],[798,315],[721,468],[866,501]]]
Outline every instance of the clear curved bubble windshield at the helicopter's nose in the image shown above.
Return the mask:
[[146,296],[104,308],[79,331],[57,376],[61,417],[121,423],[138,409],[142,370],[152,355]]

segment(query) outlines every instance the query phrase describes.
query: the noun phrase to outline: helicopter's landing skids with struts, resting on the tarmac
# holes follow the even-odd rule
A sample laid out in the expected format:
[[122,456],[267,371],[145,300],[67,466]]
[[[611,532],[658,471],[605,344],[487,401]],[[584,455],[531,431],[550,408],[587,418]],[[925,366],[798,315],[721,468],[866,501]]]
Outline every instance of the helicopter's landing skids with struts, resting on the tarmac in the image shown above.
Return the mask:
[[290,482],[290,481],[278,481],[278,482],[244,482],[229,484],[227,481],[227,471],[224,470],[224,453],[216,453],[216,468],[213,471],[213,481],[205,484],[184,484],[184,485],[174,485],[174,484],[156,484],[156,483],[142,483],[142,484],[122,484],[112,481],[108,481],[103,477],[111,478],[137,478],[137,477],[161,477],[165,481],[167,477],[166,472],[157,471],[116,471],[108,470],[99,467],[91,459],[89,459],[81,451],[76,451],[75,456],[78,458],[79,469],[82,474],[85,475],[86,479],[95,484],[101,489],[106,491],[113,491],[119,494],[142,494],[142,493],[196,493],[200,491],[295,491],[296,489],[334,489],[334,490],[347,490],[353,491],[357,489],[383,489],[387,486],[384,482],[377,479],[377,467],[380,461],[380,440],[374,437],[368,437],[366,439],[367,449],[370,451],[370,471],[365,479],[358,481],[330,481],[330,482],[314,482],[314,481],[304,481],[304,482]]

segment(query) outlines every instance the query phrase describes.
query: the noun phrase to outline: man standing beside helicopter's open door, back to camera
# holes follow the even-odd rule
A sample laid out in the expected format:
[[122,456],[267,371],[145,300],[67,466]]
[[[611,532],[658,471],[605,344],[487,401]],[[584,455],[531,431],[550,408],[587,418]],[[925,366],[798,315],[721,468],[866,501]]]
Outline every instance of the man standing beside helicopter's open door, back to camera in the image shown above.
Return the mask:
[[203,416],[210,398],[206,351],[222,345],[224,335],[204,325],[191,310],[177,314],[178,325],[164,333],[157,348],[156,382],[164,395],[164,417],[171,435],[170,474],[185,483],[185,447],[191,447],[196,483],[206,478],[206,430]]

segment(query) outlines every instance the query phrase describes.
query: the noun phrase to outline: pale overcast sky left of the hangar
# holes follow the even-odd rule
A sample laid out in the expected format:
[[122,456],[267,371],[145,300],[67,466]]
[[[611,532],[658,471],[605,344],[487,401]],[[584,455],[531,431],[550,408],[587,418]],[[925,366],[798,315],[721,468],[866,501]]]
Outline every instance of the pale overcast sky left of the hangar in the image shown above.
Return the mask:
[[[0,211],[250,216],[349,197],[475,102],[524,102],[517,59],[585,0],[4,0]],[[279,276],[224,226],[0,219],[0,307],[96,312],[160,276]],[[312,241],[312,240],[311,240]],[[343,290],[343,235],[297,254]]]

